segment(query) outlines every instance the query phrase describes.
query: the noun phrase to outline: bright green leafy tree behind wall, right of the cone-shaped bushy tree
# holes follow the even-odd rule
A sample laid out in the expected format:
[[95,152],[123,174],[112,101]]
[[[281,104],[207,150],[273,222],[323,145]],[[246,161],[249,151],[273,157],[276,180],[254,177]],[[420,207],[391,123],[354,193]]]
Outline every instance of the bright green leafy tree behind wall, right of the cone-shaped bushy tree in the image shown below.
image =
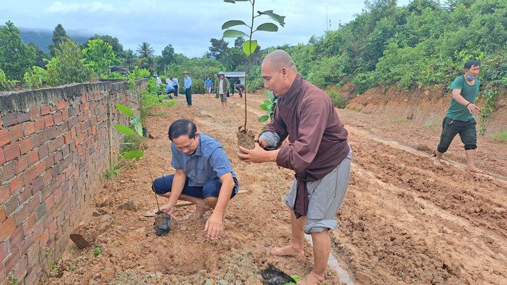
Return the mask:
[[113,63],[117,62],[113,46],[102,39],[88,41],[88,47],[83,49],[85,63],[92,69],[94,76],[105,78],[108,76]]

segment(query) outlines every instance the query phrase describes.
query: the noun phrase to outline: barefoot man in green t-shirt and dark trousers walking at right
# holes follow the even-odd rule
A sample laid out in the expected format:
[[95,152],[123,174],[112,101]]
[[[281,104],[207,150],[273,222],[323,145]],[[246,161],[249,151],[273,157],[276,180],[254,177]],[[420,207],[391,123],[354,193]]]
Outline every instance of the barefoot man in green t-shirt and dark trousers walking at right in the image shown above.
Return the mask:
[[447,151],[454,137],[459,134],[461,141],[465,144],[467,170],[482,172],[475,166],[477,131],[473,116],[481,111],[475,105],[479,94],[480,83],[477,76],[479,76],[480,65],[478,60],[468,60],[465,63],[465,75],[459,76],[451,84],[452,99],[442,123],[442,135],[440,135],[440,143],[434,160],[436,165],[440,165],[440,158]]

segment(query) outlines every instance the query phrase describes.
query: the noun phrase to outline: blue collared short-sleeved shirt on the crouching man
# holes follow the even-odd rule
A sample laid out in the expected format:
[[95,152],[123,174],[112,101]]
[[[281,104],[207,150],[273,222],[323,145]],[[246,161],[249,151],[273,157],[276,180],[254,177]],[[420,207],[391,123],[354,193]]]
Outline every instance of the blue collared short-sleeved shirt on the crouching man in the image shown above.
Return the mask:
[[236,175],[222,145],[213,137],[199,132],[199,144],[192,155],[185,155],[171,143],[172,167],[181,169],[188,178],[188,186],[203,187],[206,182],[227,173]]

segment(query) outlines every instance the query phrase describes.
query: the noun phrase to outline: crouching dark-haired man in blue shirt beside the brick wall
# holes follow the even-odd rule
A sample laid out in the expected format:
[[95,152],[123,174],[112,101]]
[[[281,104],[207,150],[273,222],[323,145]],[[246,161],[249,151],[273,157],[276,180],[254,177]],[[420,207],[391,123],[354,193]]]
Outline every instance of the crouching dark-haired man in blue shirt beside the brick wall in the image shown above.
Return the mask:
[[178,199],[197,206],[195,219],[213,208],[204,230],[211,239],[219,239],[224,231],[225,209],[239,190],[231,163],[222,145],[197,132],[195,123],[187,119],[179,119],[169,126],[169,139],[176,174],[153,181],[153,191],[169,198],[160,211],[171,215]]

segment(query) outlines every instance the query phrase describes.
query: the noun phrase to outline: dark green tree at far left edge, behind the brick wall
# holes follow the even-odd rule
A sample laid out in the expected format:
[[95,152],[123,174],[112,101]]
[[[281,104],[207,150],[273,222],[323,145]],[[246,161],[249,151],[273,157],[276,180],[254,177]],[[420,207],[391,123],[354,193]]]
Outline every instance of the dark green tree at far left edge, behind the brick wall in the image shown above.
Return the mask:
[[0,27],[0,69],[6,77],[22,80],[25,71],[35,62],[35,49],[19,37],[19,28],[11,21]]

